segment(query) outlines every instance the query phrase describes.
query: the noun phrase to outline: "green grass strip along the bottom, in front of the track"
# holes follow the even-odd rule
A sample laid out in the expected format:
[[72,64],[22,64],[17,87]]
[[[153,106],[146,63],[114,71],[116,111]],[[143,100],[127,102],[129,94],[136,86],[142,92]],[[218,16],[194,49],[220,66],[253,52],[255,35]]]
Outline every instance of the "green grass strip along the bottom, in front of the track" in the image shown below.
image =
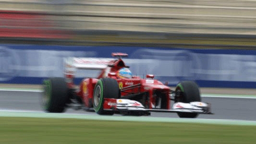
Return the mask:
[[256,126],[0,117],[0,144],[255,144]]

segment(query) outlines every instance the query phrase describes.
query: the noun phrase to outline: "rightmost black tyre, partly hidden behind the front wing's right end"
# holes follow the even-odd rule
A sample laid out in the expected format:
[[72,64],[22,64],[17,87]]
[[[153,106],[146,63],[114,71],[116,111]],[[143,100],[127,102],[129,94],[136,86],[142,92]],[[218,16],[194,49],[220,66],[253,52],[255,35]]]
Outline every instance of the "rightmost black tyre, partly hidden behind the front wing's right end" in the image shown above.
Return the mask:
[[[195,82],[186,81],[177,84],[175,94],[175,103],[201,101],[200,91]],[[180,118],[196,118],[198,116],[197,113],[188,112],[179,112],[177,114]]]

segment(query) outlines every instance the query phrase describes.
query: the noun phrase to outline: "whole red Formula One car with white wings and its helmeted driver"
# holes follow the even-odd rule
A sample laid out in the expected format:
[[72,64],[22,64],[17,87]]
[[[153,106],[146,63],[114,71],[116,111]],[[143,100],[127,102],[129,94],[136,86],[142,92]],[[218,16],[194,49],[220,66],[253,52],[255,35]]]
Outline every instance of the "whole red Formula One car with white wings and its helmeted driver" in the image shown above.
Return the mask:
[[[112,53],[118,59],[68,58],[65,78],[43,82],[41,105],[47,112],[65,108],[93,110],[99,115],[150,115],[150,112],[175,112],[181,118],[212,114],[209,103],[201,102],[195,82],[181,82],[175,90],[146,75],[132,75],[121,59],[125,53]],[[85,78],[79,87],[73,84],[76,70],[101,70],[97,78]],[[93,71],[94,72],[94,71]],[[76,88],[77,87],[77,88]],[[171,101],[174,101],[171,108]]]

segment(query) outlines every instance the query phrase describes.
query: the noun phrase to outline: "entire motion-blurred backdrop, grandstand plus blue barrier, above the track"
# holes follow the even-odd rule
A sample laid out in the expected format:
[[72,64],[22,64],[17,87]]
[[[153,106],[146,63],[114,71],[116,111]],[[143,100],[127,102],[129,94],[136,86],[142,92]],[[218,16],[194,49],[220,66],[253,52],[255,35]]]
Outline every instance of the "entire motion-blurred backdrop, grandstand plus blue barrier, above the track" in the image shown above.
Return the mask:
[[64,58],[126,52],[134,74],[171,86],[256,88],[255,22],[256,0],[0,0],[0,83],[41,84],[63,76]]

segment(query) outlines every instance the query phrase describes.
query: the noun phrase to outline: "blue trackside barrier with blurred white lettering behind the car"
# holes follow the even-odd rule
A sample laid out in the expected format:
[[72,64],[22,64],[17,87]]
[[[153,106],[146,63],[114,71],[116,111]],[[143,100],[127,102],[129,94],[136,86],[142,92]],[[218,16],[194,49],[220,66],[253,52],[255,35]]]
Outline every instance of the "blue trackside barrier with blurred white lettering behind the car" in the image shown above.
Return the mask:
[[[0,46],[0,83],[41,84],[44,78],[63,77],[67,57],[110,58],[125,52],[124,59],[134,75],[154,74],[173,86],[196,81],[201,87],[256,88],[256,51],[227,49],[184,49],[154,47]],[[99,71],[79,70],[75,84]]]

